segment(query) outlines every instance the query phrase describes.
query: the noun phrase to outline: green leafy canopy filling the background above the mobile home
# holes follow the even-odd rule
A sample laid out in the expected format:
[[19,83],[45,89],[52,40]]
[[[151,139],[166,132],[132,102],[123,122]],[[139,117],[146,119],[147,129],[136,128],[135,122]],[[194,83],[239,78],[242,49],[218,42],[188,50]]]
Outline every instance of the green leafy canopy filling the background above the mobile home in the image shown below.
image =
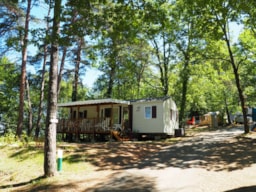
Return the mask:
[[[13,48],[22,48],[20,38],[23,29],[18,21],[22,21],[21,5],[25,4],[13,1],[10,6],[7,1],[1,1],[1,5],[0,34],[5,49],[1,49],[0,55],[5,54],[2,50],[9,49],[12,50],[9,52],[10,59],[19,60],[20,53],[14,52]],[[57,39],[60,52],[63,46],[68,51],[58,102],[71,101],[77,40],[83,38],[78,100],[105,97],[132,99],[167,94],[173,96],[180,110],[184,108],[184,113],[191,109],[224,111],[227,107],[225,101],[234,113],[240,102],[234,77],[234,69],[237,69],[247,105],[254,106],[255,6],[254,0],[246,3],[229,0],[65,1]],[[44,16],[48,15],[45,13]],[[51,19],[36,18],[38,23]],[[48,48],[46,55],[42,55],[42,47],[51,40],[45,27],[38,23],[30,29],[28,39],[37,52],[36,57],[28,52],[29,64],[36,73],[27,74],[35,115],[41,90],[41,60],[45,56],[49,61],[50,52]],[[238,41],[232,37],[233,23],[244,26]],[[230,50],[227,49],[227,40]],[[230,65],[229,51],[233,53],[235,68]],[[8,126],[15,129],[20,67],[10,59],[2,57],[0,60],[0,113]],[[90,67],[101,71],[94,89],[82,84],[82,79],[88,78],[86,69]],[[49,65],[46,70],[45,90]],[[25,110],[28,109],[27,103]],[[46,106],[47,98],[43,101],[43,120]],[[26,125],[27,111],[24,121]]]

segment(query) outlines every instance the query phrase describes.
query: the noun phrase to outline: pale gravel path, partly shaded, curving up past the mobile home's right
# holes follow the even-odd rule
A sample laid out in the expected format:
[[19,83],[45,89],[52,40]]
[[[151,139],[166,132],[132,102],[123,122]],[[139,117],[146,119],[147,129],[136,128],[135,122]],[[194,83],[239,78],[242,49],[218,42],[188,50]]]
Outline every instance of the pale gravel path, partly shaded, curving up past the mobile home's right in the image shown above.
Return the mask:
[[116,171],[89,192],[256,191],[256,144],[242,129],[203,132]]

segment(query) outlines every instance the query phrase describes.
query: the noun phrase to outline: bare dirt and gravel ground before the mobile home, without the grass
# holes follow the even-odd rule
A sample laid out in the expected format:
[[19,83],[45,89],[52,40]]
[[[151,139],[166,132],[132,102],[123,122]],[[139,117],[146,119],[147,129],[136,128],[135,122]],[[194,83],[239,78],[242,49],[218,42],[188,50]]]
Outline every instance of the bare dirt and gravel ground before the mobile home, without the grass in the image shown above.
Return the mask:
[[201,132],[174,143],[79,144],[79,150],[88,153],[86,161],[93,164],[90,174],[14,191],[256,191],[256,140],[241,137],[242,133],[240,128]]

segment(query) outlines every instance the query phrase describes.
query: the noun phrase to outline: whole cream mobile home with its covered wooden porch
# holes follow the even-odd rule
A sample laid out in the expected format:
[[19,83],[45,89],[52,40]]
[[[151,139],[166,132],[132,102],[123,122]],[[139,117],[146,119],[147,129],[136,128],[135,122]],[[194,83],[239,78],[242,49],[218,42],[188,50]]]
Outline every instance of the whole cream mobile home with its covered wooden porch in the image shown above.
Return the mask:
[[178,110],[170,97],[132,101],[87,100],[61,103],[58,107],[68,109],[66,116],[59,117],[57,127],[57,133],[63,137],[81,139],[81,136],[90,135],[95,139],[97,135],[103,138],[110,134],[118,137],[116,131],[122,132],[120,135],[128,132],[174,135],[175,129],[179,128]]

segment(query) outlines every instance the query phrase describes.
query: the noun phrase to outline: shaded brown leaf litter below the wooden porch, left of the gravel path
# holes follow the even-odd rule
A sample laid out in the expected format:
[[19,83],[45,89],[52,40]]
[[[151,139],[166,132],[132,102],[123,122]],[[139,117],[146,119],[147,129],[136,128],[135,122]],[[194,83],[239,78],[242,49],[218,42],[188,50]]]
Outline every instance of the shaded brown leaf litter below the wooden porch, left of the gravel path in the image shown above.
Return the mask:
[[[169,143],[170,144],[170,143]],[[76,163],[87,161],[98,167],[98,170],[122,170],[138,167],[146,157],[158,153],[163,142],[109,142],[77,144],[75,147],[62,146],[66,154],[63,161]]]

